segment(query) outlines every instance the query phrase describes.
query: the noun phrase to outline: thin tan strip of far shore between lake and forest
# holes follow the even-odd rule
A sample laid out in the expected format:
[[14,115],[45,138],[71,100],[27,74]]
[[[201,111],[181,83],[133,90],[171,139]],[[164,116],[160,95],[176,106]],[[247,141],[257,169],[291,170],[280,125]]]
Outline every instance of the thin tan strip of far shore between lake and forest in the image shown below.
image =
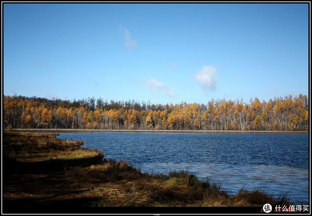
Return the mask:
[[63,128],[30,128],[30,129],[3,129],[4,131],[90,131],[90,132],[161,132],[161,133],[309,133],[309,131],[215,131],[215,130],[98,130],[98,129],[63,129]]

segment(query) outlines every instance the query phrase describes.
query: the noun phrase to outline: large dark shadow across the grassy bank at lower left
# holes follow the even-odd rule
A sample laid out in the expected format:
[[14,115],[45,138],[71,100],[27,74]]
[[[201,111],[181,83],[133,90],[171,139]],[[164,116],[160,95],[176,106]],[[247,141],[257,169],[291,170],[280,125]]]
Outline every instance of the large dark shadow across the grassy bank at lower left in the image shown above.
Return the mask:
[[[9,161],[12,161],[11,159]],[[76,212],[99,198],[85,193],[79,178],[68,177],[72,169],[83,169],[102,161],[99,156],[81,159],[5,163],[2,211],[7,214]],[[85,180],[82,180],[85,181]],[[69,209],[68,209],[69,208]],[[47,209],[50,209],[47,211]]]

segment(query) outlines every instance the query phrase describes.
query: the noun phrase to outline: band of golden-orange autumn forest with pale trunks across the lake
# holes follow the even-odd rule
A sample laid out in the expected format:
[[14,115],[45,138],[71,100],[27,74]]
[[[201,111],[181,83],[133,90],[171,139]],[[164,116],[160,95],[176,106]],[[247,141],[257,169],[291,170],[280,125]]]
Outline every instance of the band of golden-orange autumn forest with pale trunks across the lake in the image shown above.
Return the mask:
[[300,94],[268,102],[257,97],[212,98],[207,104],[154,104],[83,98],[47,99],[3,95],[3,129],[261,130],[308,131],[309,99]]

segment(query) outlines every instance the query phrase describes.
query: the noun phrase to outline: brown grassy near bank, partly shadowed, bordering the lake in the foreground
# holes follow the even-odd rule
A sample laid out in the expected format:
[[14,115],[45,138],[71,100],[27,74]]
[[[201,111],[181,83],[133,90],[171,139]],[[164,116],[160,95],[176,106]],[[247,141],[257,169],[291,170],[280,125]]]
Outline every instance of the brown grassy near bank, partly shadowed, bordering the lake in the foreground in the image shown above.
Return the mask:
[[28,207],[37,212],[42,208],[41,213],[47,213],[46,208],[49,213],[64,213],[62,209],[104,206],[257,207],[260,213],[267,203],[273,207],[291,204],[286,195],[274,200],[263,191],[244,188],[230,197],[221,184],[199,180],[183,170],[143,173],[129,162],[103,160],[103,152],[82,148],[83,141],[66,141],[57,135],[3,132],[3,213],[30,211]]

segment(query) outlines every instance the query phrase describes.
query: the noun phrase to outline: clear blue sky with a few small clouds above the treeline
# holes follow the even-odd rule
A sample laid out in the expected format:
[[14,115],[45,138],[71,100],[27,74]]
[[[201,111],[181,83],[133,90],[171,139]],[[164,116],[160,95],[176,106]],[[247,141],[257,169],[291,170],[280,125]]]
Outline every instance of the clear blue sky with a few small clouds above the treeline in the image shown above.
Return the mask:
[[3,94],[309,97],[306,4],[3,4]]

